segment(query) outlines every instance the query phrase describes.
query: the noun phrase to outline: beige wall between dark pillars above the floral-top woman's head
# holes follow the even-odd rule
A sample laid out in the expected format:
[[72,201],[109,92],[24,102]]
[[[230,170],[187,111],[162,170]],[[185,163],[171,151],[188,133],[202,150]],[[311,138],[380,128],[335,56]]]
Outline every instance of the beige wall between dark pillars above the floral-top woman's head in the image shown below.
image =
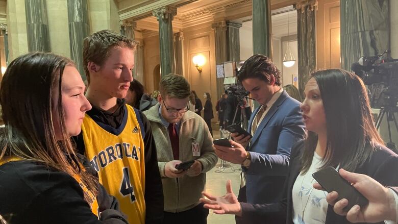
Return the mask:
[[316,11],[317,68],[340,68],[340,1],[318,0]]

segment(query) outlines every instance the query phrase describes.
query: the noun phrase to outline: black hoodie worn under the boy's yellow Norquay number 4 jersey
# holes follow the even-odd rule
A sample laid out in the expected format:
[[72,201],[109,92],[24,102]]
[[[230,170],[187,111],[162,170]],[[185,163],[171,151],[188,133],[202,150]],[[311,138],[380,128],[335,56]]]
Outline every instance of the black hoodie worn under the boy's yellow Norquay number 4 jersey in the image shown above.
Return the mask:
[[[118,109],[110,113],[100,108],[92,106],[92,109],[86,113],[95,121],[105,123],[106,125],[118,128],[125,114],[125,100],[117,99]],[[145,148],[145,223],[162,223],[163,221],[163,188],[158,168],[158,159],[156,153],[155,140],[151,131],[151,123],[146,116],[139,111],[144,125],[144,148]],[[73,137],[77,144],[78,152],[82,155],[85,153],[83,135]]]

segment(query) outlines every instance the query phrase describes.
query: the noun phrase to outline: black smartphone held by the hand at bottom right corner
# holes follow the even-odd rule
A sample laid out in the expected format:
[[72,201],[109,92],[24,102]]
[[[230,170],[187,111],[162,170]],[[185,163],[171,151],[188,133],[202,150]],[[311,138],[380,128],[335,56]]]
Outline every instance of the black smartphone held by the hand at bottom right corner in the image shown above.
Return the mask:
[[351,183],[344,180],[339,172],[332,166],[325,167],[312,174],[312,177],[329,193],[336,191],[339,194],[338,200],[346,198],[349,204],[343,209],[349,211],[354,205],[361,208],[369,202]]

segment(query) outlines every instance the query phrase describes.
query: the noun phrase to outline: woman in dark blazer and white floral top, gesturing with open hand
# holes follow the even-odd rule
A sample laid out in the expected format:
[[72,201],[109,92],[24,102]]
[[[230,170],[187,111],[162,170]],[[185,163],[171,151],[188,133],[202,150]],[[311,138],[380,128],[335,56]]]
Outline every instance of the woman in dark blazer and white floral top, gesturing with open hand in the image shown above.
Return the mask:
[[391,170],[398,170],[398,155],[384,146],[359,77],[341,69],[314,72],[301,109],[308,136],[292,147],[282,200],[264,205],[239,203],[228,181],[224,196],[204,192],[210,199],[201,199],[205,208],[236,214],[247,223],[349,223],[328,206],[327,192],[313,188],[312,173],[333,166],[397,186],[398,176]]

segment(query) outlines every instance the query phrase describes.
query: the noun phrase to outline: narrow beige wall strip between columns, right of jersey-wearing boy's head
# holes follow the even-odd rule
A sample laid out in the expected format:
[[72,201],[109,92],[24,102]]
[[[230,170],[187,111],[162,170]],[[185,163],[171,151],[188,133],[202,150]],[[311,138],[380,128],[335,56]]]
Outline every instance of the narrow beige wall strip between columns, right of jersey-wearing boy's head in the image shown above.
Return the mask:
[[[144,83],[147,92],[159,89],[160,45],[159,36],[152,36],[143,39],[144,42]],[[156,70],[155,70],[156,68]],[[159,73],[158,73],[159,72]]]

